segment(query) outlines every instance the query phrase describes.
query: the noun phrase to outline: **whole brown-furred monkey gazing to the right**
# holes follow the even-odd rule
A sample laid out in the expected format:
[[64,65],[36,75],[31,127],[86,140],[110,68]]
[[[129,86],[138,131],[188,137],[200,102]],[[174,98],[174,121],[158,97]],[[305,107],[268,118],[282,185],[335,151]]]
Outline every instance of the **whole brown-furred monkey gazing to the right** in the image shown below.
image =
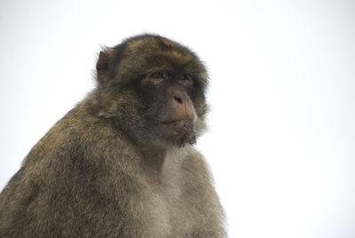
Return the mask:
[[103,47],[96,87],[30,150],[0,194],[0,237],[225,237],[194,147],[208,72],[166,37]]

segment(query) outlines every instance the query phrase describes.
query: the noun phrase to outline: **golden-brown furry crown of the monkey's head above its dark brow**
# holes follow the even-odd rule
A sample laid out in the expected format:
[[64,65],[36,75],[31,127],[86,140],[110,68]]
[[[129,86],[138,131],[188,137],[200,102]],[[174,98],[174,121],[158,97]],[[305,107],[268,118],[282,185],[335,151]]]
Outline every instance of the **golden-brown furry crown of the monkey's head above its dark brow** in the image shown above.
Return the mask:
[[[170,73],[190,73],[206,83],[207,72],[201,60],[187,47],[168,38],[155,35],[131,37],[120,47],[117,54],[124,55],[116,61],[115,72],[142,74],[151,70]],[[120,53],[120,50],[123,50]]]

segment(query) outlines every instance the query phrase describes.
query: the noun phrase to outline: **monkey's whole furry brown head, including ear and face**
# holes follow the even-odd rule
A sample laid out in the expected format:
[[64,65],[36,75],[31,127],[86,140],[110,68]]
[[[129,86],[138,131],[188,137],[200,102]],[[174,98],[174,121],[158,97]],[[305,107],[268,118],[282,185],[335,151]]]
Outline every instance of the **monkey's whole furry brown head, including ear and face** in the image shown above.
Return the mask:
[[143,35],[99,53],[94,115],[139,144],[193,144],[205,127],[207,72],[188,48]]

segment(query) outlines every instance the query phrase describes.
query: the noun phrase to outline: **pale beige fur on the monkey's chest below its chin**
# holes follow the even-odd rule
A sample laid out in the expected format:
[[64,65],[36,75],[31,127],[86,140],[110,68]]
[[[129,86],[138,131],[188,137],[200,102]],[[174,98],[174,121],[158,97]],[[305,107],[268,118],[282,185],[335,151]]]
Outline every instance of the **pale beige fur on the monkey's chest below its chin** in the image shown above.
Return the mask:
[[150,175],[149,187],[150,201],[146,206],[154,216],[154,234],[160,230],[162,237],[190,237],[193,227],[196,225],[199,212],[195,207],[195,198],[189,194],[185,184],[191,181],[190,174],[184,170],[189,154],[193,147],[174,148],[165,155],[162,171],[159,174]]

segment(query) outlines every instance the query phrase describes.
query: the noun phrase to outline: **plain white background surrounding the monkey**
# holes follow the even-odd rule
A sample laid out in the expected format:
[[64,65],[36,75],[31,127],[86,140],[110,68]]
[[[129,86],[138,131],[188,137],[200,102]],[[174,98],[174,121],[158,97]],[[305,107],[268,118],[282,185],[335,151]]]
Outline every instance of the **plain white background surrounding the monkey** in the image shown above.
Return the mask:
[[351,1],[0,2],[0,186],[140,33],[206,62],[209,161],[229,237],[355,237]]

